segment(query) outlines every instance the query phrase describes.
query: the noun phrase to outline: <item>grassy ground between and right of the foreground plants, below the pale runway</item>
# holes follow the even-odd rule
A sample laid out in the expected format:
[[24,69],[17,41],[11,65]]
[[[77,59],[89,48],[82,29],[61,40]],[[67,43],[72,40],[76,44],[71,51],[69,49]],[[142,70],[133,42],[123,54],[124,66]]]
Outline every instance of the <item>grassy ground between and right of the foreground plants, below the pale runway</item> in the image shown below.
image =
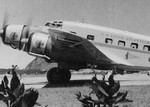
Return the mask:
[[[123,86],[120,91],[128,90],[128,99],[132,103],[120,104],[119,107],[150,107],[150,86]],[[40,93],[38,102],[48,107],[81,107],[75,93],[81,91],[88,95],[91,89],[87,86],[79,87],[51,87],[38,90]]]

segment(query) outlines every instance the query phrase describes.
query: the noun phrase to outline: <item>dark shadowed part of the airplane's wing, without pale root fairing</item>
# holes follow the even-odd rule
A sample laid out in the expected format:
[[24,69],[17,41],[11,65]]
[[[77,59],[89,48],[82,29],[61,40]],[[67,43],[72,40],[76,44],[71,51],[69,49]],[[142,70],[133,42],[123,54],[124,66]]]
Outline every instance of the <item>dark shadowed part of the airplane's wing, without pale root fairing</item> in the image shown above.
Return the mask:
[[[104,60],[105,62],[112,62],[107,56],[99,51],[90,41],[87,39],[69,33],[67,31],[50,29],[51,41],[59,58],[65,61],[71,60],[73,62],[91,63]],[[55,55],[57,55],[55,53]],[[65,59],[66,57],[66,59]]]

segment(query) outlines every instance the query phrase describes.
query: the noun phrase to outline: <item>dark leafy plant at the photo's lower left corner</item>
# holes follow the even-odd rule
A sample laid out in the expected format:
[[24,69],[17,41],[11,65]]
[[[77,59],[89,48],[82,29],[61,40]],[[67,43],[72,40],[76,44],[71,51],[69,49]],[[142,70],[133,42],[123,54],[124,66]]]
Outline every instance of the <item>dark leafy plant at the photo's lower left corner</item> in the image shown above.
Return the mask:
[[15,72],[16,66],[12,66],[12,79],[8,86],[8,78],[5,75],[0,84],[0,100],[7,107],[33,107],[38,98],[38,91],[30,88],[25,90],[24,84],[20,83]]

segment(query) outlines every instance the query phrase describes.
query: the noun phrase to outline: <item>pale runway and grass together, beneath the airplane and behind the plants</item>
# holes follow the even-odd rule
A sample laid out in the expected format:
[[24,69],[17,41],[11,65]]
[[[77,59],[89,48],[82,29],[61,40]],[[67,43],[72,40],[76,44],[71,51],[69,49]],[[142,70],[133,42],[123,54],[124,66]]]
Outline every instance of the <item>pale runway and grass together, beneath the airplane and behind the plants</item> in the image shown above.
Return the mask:
[[[81,107],[81,103],[76,99],[75,94],[81,91],[88,95],[91,89],[85,83],[91,82],[93,75],[73,74],[71,81],[66,85],[48,85],[45,74],[42,75],[22,75],[21,81],[26,88],[34,87],[39,92],[38,102],[42,107]],[[3,75],[0,76],[0,79]],[[10,79],[11,76],[8,76]],[[98,75],[101,79],[101,75]],[[107,79],[107,77],[106,77]],[[150,107],[150,77],[146,74],[125,74],[116,75],[115,80],[121,83],[120,91],[128,91],[127,98],[133,103],[120,104],[120,107]],[[0,107],[6,107],[0,102]],[[35,106],[38,107],[38,106]]]

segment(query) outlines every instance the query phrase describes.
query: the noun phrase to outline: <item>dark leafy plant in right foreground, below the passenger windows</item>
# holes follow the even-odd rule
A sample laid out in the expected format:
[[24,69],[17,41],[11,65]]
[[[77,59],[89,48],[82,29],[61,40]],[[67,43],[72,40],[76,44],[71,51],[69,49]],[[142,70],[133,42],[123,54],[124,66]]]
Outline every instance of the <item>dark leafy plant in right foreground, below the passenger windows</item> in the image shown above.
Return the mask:
[[[77,99],[83,104],[83,107],[113,107],[118,103],[132,102],[126,98],[128,91],[119,92],[120,82],[113,79],[113,75],[108,78],[108,84],[104,80],[98,80],[96,76],[92,78],[92,83],[89,84],[92,92],[88,96],[82,96],[81,92],[77,95]],[[91,94],[95,94],[97,99],[93,99]]]

